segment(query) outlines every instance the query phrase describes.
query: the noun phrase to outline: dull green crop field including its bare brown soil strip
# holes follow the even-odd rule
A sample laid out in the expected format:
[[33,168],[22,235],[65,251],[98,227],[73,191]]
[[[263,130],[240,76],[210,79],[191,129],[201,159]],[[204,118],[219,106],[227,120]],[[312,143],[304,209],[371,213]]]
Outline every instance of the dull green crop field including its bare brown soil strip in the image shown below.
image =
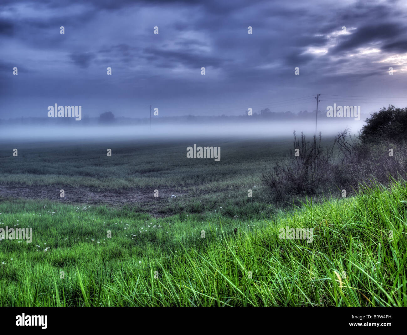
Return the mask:
[[[153,216],[184,210],[205,212],[247,201],[260,206],[267,202],[261,172],[287,154],[292,140],[201,142],[220,146],[221,160],[187,159],[190,141],[22,143],[18,157],[9,154],[11,147],[0,151],[0,195],[83,205],[131,205]],[[111,157],[106,154],[108,148]],[[249,189],[258,192],[247,200]],[[156,197],[154,190],[158,190]]]

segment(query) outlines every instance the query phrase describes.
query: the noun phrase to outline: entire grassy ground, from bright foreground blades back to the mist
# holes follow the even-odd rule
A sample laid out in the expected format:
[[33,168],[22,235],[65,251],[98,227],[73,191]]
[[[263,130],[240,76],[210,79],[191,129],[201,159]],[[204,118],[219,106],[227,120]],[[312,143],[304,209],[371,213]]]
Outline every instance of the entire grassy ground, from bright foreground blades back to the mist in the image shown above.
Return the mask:
[[[407,306],[406,185],[282,209],[260,174],[290,144],[213,143],[220,162],[181,142],[3,148],[2,190],[22,199],[0,193],[0,229],[33,241],[0,241],[0,306]],[[119,202],[61,200],[66,185]],[[287,226],[312,242],[280,239]]]

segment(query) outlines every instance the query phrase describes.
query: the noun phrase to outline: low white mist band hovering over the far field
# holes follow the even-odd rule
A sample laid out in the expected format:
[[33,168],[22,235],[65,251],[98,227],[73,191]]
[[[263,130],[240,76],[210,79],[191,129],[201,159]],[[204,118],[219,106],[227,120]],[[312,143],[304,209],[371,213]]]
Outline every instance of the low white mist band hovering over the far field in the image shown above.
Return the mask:
[[[323,137],[337,134],[350,128],[357,134],[362,121],[322,120],[318,123],[317,132]],[[195,138],[230,138],[256,139],[291,137],[293,132],[306,136],[315,133],[315,121],[267,121],[259,123],[161,123],[131,126],[39,126],[7,125],[0,126],[0,140],[16,141],[78,141],[78,140],[157,140],[157,139],[195,139]]]

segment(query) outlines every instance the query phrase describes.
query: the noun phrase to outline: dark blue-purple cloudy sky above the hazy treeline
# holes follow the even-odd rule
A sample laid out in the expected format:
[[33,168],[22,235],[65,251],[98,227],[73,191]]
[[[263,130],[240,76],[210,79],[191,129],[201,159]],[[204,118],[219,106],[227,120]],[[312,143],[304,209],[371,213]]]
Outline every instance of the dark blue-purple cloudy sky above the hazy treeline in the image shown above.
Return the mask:
[[0,118],[405,107],[406,26],[404,0],[2,0]]

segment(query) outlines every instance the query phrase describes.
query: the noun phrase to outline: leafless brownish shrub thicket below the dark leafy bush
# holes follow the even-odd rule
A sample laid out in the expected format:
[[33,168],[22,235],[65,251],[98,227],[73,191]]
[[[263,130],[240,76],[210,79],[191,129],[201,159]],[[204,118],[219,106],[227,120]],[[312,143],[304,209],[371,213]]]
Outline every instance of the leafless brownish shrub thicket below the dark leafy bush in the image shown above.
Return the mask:
[[[295,156],[299,149],[299,156]],[[335,149],[335,150],[334,150]],[[389,156],[393,149],[393,156]],[[345,189],[348,194],[357,191],[359,185],[387,184],[405,178],[407,170],[407,143],[380,141],[366,143],[351,136],[346,128],[335,137],[333,145],[321,146],[318,139],[306,141],[301,133],[297,139],[294,132],[290,154],[271,169],[262,173],[275,200],[284,201],[292,196],[316,195]]]

